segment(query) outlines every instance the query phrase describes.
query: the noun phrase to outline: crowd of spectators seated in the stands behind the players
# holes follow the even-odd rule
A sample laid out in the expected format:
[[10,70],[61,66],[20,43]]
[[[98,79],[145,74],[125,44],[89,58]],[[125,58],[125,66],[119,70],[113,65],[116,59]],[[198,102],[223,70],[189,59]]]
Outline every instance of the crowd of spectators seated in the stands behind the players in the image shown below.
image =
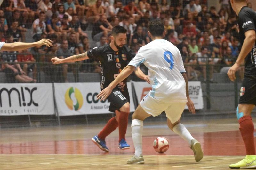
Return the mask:
[[[2,52],[1,71],[8,82],[36,82],[38,71],[52,75],[51,81],[63,82],[68,81],[68,72],[100,73],[97,61],[91,59],[61,66],[49,63],[52,57],[65,58],[109,43],[116,25],[127,29],[127,46],[137,53],[151,41],[148,23],[156,19],[164,23],[164,39],[179,48],[188,79],[195,81],[201,76],[206,81],[209,74],[214,82],[213,73],[226,73],[240,49],[237,16],[229,0],[219,2],[217,11],[215,6],[207,6],[207,0],[4,0],[0,6],[1,42],[26,42],[30,38],[26,36],[31,36],[34,41],[49,38],[53,46]],[[26,34],[28,30],[33,35]],[[46,64],[38,67],[37,63]],[[240,78],[243,70],[239,69]]]

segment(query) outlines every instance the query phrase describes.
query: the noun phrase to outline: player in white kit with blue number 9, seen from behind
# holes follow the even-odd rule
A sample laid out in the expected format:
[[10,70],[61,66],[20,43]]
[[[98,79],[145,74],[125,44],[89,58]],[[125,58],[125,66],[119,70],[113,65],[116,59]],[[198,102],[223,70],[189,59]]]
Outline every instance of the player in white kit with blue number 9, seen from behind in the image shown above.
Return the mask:
[[100,100],[106,100],[112,89],[143,63],[148,67],[152,90],[142,99],[132,115],[132,140],[135,153],[127,163],[144,163],[142,156],[143,120],[151,115],[155,117],[163,111],[167,117],[168,127],[188,142],[198,162],[204,156],[201,144],[180,123],[186,104],[189,111],[195,114],[194,103],[189,98],[188,78],[180,51],[172,43],[163,39],[165,31],[161,21],[154,20],[149,23],[148,35],[153,41],[141,47],[128,66],[97,97]]

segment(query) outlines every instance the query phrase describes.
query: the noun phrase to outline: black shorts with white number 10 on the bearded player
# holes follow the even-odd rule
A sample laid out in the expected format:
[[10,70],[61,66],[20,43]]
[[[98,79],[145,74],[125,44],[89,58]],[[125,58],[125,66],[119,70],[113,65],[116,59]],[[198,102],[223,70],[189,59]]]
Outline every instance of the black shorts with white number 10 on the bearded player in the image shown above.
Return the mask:
[[108,96],[108,101],[110,102],[108,111],[114,112],[119,109],[127,102],[130,102],[130,96],[127,88],[124,88],[124,91],[119,89],[113,89],[110,95]]

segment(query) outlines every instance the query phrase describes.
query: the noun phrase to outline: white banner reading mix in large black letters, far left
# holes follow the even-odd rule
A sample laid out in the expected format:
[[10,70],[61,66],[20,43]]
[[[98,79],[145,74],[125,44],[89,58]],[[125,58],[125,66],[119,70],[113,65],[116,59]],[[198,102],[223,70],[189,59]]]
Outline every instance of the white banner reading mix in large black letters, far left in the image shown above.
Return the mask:
[[0,116],[52,114],[51,83],[0,84]]

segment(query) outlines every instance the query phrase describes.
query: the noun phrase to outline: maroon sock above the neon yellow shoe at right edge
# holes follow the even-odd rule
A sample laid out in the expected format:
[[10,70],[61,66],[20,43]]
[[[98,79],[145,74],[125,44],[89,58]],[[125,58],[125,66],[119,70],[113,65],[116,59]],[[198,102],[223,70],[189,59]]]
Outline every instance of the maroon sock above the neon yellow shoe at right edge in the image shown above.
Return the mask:
[[255,155],[255,146],[254,146],[254,125],[252,122],[251,116],[243,116],[238,120],[240,127],[240,133],[244,140],[246,154]]

